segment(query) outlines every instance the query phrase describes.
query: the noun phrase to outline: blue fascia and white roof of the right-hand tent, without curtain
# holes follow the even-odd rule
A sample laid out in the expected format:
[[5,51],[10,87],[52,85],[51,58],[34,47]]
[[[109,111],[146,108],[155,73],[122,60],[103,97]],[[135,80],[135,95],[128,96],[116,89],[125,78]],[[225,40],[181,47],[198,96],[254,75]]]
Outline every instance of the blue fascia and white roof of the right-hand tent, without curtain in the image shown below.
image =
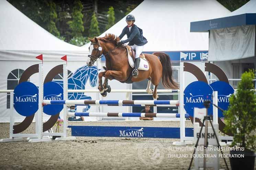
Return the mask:
[[[210,17],[209,17],[210,18]],[[241,8],[224,15],[223,18],[203,20],[190,23],[190,32],[208,32],[208,30],[256,25],[256,0],[251,0]]]

